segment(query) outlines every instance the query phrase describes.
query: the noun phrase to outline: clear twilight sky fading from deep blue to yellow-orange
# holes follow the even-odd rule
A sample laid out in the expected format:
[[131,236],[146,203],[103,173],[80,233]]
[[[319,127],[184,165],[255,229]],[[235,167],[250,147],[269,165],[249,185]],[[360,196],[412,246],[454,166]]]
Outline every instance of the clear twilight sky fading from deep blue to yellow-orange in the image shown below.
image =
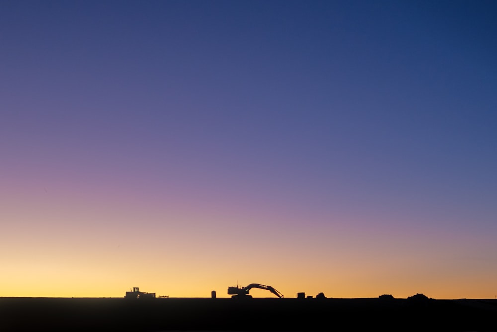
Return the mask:
[[495,298],[496,14],[1,1],[0,296]]

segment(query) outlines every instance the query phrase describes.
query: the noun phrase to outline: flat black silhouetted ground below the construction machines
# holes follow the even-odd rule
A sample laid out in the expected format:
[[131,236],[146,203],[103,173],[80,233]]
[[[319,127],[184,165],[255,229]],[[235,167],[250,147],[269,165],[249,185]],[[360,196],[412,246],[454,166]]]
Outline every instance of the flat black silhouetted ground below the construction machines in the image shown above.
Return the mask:
[[0,331],[497,331],[497,300],[0,298]]

